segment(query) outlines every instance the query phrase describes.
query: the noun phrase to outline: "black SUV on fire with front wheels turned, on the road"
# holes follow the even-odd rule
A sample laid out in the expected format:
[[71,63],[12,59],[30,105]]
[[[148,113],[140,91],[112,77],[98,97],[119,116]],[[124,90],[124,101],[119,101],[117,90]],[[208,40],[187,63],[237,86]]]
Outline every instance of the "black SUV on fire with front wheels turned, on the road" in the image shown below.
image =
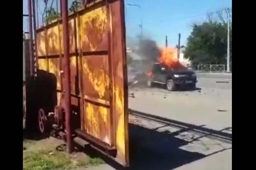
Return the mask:
[[181,86],[194,89],[197,83],[194,71],[185,67],[170,69],[160,63],[154,63],[153,69],[147,75],[148,87],[151,87],[154,83],[164,84],[168,91],[174,91]]

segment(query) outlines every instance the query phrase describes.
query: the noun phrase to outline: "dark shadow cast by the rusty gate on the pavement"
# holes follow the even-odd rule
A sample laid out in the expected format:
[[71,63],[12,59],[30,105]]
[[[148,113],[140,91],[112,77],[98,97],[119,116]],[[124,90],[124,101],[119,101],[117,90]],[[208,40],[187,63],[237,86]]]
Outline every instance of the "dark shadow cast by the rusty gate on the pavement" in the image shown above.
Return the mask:
[[[178,133],[182,133],[183,130]],[[207,156],[222,152],[222,149],[208,155],[181,149],[191,141],[178,139],[175,133],[158,132],[142,126],[129,124],[130,167],[123,168],[105,158],[107,164],[121,170],[170,170],[194,162]]]

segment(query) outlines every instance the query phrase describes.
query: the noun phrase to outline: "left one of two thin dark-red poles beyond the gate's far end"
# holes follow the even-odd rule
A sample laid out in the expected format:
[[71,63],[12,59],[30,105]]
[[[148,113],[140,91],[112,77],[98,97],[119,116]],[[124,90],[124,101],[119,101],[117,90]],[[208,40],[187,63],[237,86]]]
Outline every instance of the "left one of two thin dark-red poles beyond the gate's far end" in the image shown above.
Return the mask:
[[27,9],[29,15],[29,63],[30,63],[30,76],[33,76],[33,31],[32,31],[32,9],[31,0],[27,0]]

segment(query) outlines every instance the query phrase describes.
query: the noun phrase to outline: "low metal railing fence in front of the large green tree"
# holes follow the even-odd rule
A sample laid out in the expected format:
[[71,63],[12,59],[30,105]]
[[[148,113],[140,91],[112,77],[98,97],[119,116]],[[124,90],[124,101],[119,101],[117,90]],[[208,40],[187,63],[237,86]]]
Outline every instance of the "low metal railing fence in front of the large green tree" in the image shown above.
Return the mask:
[[198,64],[192,65],[196,72],[211,72],[222,73],[225,72],[225,64]]

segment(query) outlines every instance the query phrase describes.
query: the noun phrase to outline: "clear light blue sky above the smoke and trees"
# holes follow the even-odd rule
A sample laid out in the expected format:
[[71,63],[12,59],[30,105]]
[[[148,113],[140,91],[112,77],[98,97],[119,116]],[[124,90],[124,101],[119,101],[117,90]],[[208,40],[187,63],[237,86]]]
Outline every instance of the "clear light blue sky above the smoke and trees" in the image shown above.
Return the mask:
[[[44,5],[43,0],[38,2],[40,14]],[[141,6],[140,9],[137,6],[125,5],[126,35],[138,35],[138,25],[142,19],[143,34],[150,36],[159,46],[165,45],[166,35],[168,45],[175,46],[178,42],[178,33],[181,33],[181,45],[185,45],[193,23],[205,20],[208,12],[232,7],[231,0],[125,0],[125,4]],[[23,0],[23,14],[27,14],[27,0]],[[40,15],[39,20],[42,20]],[[23,29],[27,30],[27,19],[24,17]]]

